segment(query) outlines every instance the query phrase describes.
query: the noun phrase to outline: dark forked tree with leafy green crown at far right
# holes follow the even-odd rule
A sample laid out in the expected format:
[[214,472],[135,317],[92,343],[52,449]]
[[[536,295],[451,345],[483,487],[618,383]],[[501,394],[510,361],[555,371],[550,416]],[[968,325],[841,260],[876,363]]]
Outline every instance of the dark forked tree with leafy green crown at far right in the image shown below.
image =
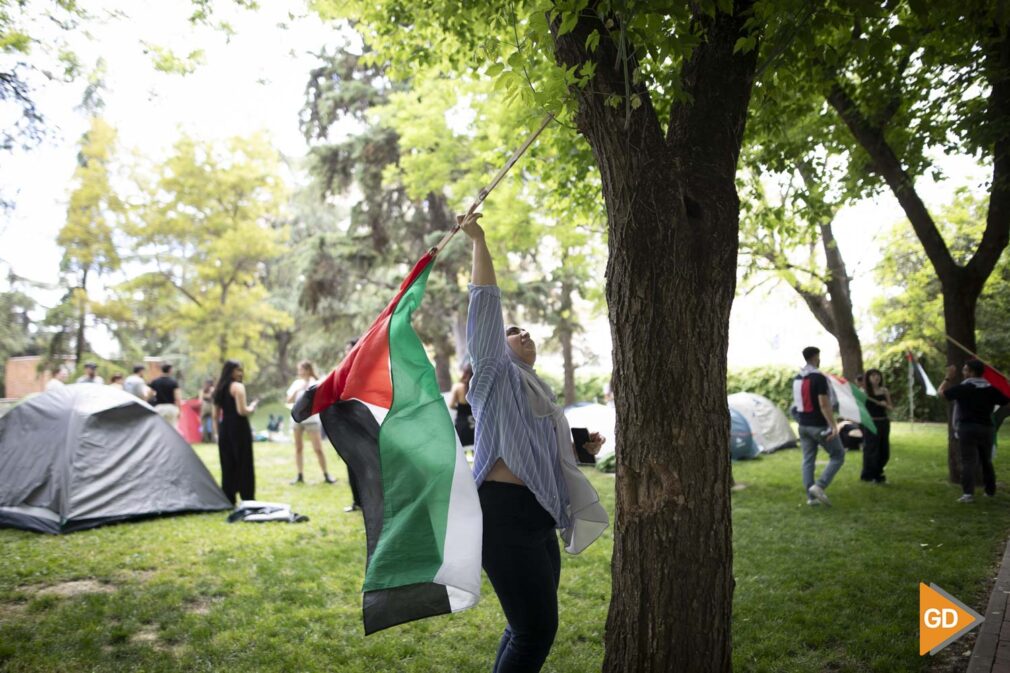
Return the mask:
[[[779,85],[789,101],[816,95],[833,110],[831,135],[852,157],[850,184],[898,200],[942,288],[945,332],[975,350],[978,299],[1010,239],[1010,17],[999,3],[893,0],[811,5],[799,24],[783,34]],[[962,263],[916,185],[938,175],[937,154],[975,156],[992,170],[986,228]],[[952,344],[946,356],[963,359]],[[956,481],[952,430],[947,463]]]

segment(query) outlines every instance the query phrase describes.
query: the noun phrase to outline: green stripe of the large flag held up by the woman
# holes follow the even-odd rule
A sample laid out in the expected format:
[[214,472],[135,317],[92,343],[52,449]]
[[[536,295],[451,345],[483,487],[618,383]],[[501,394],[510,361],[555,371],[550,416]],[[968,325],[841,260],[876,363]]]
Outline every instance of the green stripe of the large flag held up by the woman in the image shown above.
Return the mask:
[[365,591],[430,582],[442,565],[456,430],[411,325],[430,270],[431,265],[411,284],[390,318],[393,405],[379,429],[383,527]]

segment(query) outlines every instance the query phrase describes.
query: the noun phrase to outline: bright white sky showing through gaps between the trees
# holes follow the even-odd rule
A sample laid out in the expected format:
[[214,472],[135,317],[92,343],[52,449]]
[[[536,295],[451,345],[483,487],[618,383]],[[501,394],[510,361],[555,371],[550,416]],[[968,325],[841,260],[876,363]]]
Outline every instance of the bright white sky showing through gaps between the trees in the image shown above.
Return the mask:
[[[157,160],[184,130],[209,139],[266,129],[286,156],[304,155],[298,112],[315,64],[311,54],[324,45],[334,47],[342,37],[307,12],[303,2],[271,0],[258,11],[222,12],[219,18],[227,18],[235,28],[230,39],[211,28],[190,25],[186,19],[192,5],[186,0],[142,3],[142,9],[137,9],[140,3],[128,0],[99,4],[128,18],[92,23],[93,38],[76,41],[75,46],[84,64],[94,64],[99,55],[107,63],[103,114],[118,129],[122,148]],[[282,29],[281,24],[287,27]],[[203,65],[186,77],[159,73],[144,54],[143,42],[170,45],[181,55],[203,50]],[[60,276],[56,235],[66,215],[77,142],[87,126],[85,116],[75,109],[81,90],[80,85],[50,85],[38,91],[37,102],[57,130],[55,141],[0,166],[0,184],[17,193],[16,210],[0,219],[0,260],[18,275],[43,283],[56,284]],[[949,182],[923,185],[922,193],[928,194],[932,205],[948,200],[955,187],[985,178],[970,161],[947,161],[943,166]],[[868,307],[876,292],[877,239],[902,219],[890,196],[856,204],[836,219],[835,234],[853,277],[856,320],[866,344],[873,340]],[[606,317],[588,327],[587,341],[601,368],[607,369],[611,346]],[[534,336],[542,335],[534,331]],[[730,367],[798,366],[799,352],[808,345],[821,348],[825,364],[837,358],[834,340],[789,288],[767,287],[734,303]],[[111,345],[104,350],[111,350]]]

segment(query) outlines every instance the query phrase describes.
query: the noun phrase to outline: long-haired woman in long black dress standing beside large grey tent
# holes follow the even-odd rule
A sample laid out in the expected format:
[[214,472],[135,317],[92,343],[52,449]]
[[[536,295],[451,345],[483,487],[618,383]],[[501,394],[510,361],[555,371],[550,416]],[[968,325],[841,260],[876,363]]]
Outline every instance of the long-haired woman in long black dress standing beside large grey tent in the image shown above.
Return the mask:
[[217,450],[221,459],[221,490],[235,504],[256,499],[256,472],[252,468],[252,428],[248,417],[257,403],[245,403],[242,366],[234,360],[224,363],[214,388],[214,418],[217,421]]

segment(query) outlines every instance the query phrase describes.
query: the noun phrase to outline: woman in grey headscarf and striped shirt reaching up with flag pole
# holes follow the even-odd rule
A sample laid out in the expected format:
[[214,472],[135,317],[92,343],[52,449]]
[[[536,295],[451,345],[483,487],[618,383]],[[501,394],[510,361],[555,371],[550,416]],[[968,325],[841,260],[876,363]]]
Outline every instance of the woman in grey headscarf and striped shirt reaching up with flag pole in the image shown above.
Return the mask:
[[[501,292],[479,214],[459,218],[473,241],[467,319],[473,363],[467,400],[476,419],[474,478],[484,516],[482,565],[508,620],[496,673],[539,671],[558,632],[561,528],[577,554],[607,526],[606,510],[576,467],[572,434],[549,387],[536,375],[536,344],[505,327]],[[585,448],[597,454],[599,434]]]

